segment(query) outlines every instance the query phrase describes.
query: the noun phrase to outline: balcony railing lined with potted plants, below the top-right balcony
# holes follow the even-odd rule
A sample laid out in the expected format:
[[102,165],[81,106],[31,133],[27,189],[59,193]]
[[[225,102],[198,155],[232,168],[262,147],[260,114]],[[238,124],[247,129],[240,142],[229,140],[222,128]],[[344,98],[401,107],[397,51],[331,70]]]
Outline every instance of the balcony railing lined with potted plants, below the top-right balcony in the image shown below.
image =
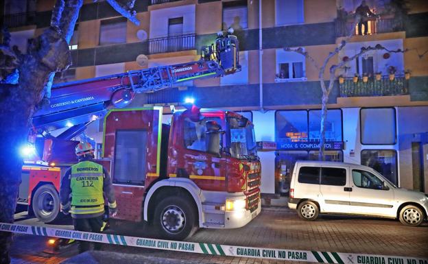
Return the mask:
[[404,76],[395,76],[390,80],[388,76],[381,77],[381,80],[369,78],[364,82],[359,77],[358,82],[353,78],[345,79],[340,87],[340,97],[366,97],[366,96],[390,96],[390,95],[408,95],[409,82]]

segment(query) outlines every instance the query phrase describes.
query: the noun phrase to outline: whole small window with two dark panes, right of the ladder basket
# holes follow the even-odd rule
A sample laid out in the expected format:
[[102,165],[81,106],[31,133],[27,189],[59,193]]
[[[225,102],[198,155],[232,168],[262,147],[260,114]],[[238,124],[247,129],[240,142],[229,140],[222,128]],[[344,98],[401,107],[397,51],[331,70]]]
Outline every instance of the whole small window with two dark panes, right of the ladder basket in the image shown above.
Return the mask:
[[276,82],[306,80],[305,56],[283,49],[276,50]]

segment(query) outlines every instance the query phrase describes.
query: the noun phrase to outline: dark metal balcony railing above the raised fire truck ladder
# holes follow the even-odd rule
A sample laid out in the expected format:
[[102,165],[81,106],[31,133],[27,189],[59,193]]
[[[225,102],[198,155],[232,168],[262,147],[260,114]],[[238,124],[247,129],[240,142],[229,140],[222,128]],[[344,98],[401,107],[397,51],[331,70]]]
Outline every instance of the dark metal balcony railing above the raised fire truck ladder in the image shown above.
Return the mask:
[[149,40],[149,52],[165,53],[195,49],[195,34],[152,38]]

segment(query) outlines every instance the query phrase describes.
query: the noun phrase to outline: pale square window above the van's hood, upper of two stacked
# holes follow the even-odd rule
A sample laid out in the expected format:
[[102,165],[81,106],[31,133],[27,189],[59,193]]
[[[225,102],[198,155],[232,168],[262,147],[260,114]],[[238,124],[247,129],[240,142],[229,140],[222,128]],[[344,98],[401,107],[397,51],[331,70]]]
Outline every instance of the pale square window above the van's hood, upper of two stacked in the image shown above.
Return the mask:
[[360,122],[362,144],[394,145],[396,143],[394,108],[362,108]]

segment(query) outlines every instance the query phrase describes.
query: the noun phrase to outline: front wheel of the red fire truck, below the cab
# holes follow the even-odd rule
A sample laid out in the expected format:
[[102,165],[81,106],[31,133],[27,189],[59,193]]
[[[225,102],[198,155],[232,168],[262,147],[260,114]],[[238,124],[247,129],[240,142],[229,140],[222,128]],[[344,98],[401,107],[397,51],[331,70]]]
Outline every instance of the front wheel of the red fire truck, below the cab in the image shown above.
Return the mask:
[[154,228],[163,239],[184,240],[197,230],[198,214],[193,202],[185,196],[161,200],[154,209]]

